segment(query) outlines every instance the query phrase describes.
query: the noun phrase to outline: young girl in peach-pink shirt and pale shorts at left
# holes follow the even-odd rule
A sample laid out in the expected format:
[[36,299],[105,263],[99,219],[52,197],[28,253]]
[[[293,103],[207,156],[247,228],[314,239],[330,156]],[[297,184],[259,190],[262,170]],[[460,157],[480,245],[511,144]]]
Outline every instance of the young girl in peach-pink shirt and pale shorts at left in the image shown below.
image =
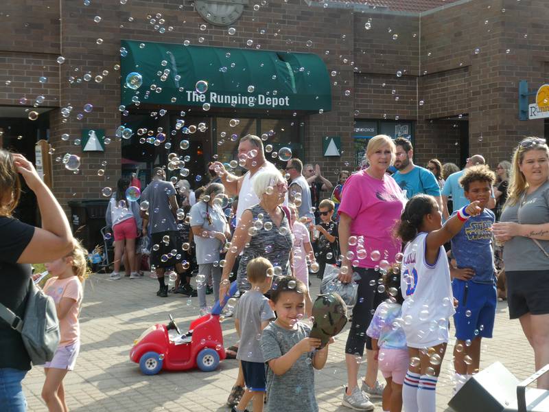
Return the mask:
[[50,412],[67,412],[63,378],[74,369],[80,351],[80,324],[78,314],[84,296],[82,282],[86,275],[86,251],[75,241],[71,253],[46,264],[51,273],[44,292],[54,298],[59,319],[60,342],[51,362],[44,365],[46,381],[42,398]]

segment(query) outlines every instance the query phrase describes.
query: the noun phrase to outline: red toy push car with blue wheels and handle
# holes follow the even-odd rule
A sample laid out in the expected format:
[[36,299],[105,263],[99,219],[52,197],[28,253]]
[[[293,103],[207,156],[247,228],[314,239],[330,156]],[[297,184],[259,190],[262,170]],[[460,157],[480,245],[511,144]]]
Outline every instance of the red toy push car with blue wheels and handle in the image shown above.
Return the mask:
[[220,313],[229,297],[236,292],[233,282],[223,304],[215,304],[210,314],[191,322],[189,332],[182,334],[170,314],[170,323],[154,325],[134,341],[130,359],[139,363],[145,375],[158,374],[162,369],[183,371],[198,367],[202,371],[215,370],[226,358]]

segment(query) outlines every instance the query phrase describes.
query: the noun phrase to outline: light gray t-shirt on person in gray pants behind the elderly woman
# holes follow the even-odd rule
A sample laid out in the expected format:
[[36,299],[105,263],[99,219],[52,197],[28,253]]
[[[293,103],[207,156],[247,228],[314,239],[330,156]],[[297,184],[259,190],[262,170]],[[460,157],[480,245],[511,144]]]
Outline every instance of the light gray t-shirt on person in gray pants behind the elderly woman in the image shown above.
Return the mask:
[[[204,230],[218,231],[225,233],[227,219],[221,207],[207,205],[206,202],[199,201],[191,207],[191,227],[201,226]],[[211,218],[211,225],[208,222],[208,215]],[[222,248],[221,240],[216,238],[202,238],[194,236],[196,244],[196,263],[205,264],[213,263],[219,260],[220,249]]]

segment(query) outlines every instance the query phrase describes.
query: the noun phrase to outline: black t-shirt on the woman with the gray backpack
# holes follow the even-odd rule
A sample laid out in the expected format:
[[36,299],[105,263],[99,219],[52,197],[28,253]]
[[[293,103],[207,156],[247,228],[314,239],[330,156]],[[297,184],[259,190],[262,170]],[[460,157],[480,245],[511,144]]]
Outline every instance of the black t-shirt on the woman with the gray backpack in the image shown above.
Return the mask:
[[[32,268],[30,264],[16,262],[33,235],[34,226],[0,217],[0,303],[21,318],[25,314]],[[21,334],[0,319],[0,368],[3,367],[27,371],[30,369],[30,358]]]

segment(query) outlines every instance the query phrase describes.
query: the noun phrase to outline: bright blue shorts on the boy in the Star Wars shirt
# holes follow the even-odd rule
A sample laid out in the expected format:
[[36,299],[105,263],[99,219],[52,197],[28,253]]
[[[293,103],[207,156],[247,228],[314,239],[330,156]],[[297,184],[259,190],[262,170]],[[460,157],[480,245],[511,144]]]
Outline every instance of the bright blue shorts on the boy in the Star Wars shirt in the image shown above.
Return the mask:
[[452,281],[458,307],[454,314],[456,338],[471,341],[476,337],[491,338],[498,291],[494,284],[477,284],[461,279]]

